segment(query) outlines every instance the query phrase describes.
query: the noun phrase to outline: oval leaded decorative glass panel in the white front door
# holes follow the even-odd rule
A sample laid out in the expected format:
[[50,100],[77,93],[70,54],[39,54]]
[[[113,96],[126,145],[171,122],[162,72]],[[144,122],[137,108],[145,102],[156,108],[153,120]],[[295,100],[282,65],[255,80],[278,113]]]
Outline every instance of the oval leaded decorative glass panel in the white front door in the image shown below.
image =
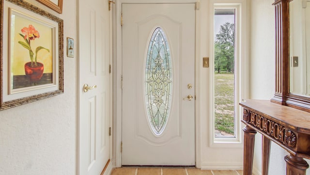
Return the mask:
[[167,37],[156,28],[147,48],[144,75],[145,107],[155,135],[165,130],[171,109],[172,67]]

